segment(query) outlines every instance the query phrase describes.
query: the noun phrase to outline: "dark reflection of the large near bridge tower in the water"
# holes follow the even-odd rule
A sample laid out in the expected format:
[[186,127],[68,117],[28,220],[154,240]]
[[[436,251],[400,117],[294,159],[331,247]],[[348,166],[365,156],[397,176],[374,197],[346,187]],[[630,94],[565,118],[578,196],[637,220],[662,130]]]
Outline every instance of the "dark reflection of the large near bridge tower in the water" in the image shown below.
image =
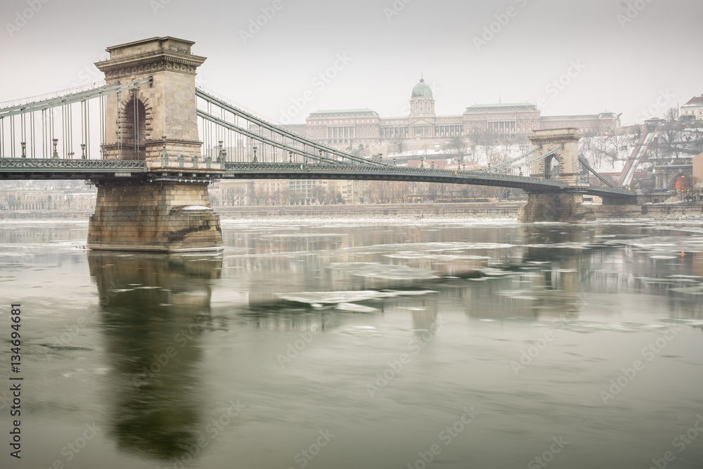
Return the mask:
[[88,262],[114,370],[110,433],[123,451],[187,460],[202,427],[200,342],[221,259],[89,252]]

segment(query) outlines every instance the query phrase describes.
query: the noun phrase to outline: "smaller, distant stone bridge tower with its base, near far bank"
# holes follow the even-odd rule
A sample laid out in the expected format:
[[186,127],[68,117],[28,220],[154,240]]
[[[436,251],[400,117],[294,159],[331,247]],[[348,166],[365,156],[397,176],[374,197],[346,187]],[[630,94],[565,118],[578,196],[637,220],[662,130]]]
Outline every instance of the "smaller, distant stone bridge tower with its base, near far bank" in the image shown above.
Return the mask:
[[541,146],[538,154],[549,153],[560,146],[559,150],[546,158],[532,163],[530,176],[544,179],[557,179],[569,185],[559,191],[527,193],[527,204],[522,207],[518,221],[532,223],[535,221],[585,221],[590,214],[583,203],[583,192],[588,186],[579,182],[579,139],[575,128],[545,129],[534,131],[529,137],[532,148]]

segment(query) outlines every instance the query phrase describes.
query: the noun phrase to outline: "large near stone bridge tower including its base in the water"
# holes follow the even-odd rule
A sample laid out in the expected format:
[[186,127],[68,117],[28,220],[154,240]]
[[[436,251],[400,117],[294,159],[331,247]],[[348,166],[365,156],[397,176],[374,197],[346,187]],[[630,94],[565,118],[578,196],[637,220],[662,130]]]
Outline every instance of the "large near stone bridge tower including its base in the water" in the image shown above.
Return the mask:
[[219,216],[209,208],[207,184],[222,169],[200,157],[195,69],[205,58],[193,55],[192,45],[154,37],[109,47],[110,59],[96,63],[108,85],[150,83],[106,97],[104,158],[146,160],[146,173],[96,181],[89,248],[221,248]]

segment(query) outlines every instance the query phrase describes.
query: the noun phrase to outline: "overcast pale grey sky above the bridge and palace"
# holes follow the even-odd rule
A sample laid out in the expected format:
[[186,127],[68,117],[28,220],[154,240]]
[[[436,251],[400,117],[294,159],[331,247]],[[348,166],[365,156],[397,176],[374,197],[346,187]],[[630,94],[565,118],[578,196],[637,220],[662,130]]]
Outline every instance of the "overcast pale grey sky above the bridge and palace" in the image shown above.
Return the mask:
[[279,122],[406,115],[423,72],[437,114],[500,98],[630,124],[703,94],[702,18],[700,0],[3,0],[0,101],[97,81],[105,47],[174,36],[207,57],[200,83]]

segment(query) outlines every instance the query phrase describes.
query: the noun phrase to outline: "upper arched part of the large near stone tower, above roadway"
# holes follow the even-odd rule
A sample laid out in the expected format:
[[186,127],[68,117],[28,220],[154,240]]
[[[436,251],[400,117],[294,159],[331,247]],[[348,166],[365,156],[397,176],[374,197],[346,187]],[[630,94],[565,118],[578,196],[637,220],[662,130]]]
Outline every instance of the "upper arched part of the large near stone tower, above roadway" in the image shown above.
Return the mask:
[[[96,63],[106,84],[152,77],[148,86],[108,95],[105,103],[105,158],[157,160],[166,137],[169,155],[190,161],[200,155],[195,109],[195,69],[205,57],[191,53],[193,41],[154,37],[105,49]],[[135,151],[136,148],[136,151]]]

